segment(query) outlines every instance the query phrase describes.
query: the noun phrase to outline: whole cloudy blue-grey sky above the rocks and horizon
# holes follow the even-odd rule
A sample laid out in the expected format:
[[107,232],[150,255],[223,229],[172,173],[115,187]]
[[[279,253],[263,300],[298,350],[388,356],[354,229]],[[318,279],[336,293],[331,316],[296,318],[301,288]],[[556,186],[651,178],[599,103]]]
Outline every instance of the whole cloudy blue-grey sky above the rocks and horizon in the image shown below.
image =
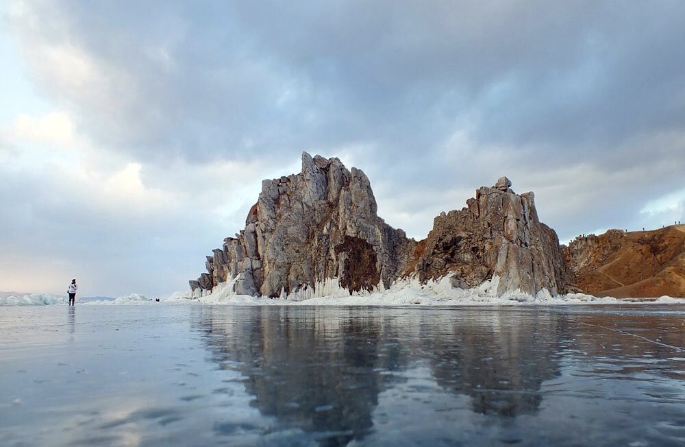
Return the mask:
[[0,3],[0,291],[188,289],[302,151],[423,239],[508,176],[562,242],[685,223],[685,3]]

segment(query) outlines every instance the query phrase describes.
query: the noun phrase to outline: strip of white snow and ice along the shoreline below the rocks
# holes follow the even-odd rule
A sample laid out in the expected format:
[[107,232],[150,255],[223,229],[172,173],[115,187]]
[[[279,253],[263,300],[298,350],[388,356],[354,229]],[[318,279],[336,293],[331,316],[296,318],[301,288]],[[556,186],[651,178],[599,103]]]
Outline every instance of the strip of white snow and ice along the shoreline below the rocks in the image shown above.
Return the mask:
[[[139,293],[121,296],[114,300],[90,300],[77,304],[97,305],[233,305],[233,306],[520,306],[520,305],[568,305],[568,304],[685,304],[685,298],[633,298],[618,299],[595,297],[584,293],[567,293],[551,296],[547,291],[537,295],[521,292],[508,292],[501,296],[493,295],[497,289],[496,280],[484,282],[473,289],[451,287],[449,278],[421,285],[417,280],[403,280],[390,289],[361,291],[350,295],[347,289],[340,289],[335,279],[316,286],[314,289],[299,291],[291,295],[285,293],[280,298],[237,295],[232,291],[230,282],[214,287],[212,293],[193,297],[191,291],[180,291],[156,302]],[[67,304],[66,296],[45,293],[19,293],[0,296],[0,306],[40,306]]]

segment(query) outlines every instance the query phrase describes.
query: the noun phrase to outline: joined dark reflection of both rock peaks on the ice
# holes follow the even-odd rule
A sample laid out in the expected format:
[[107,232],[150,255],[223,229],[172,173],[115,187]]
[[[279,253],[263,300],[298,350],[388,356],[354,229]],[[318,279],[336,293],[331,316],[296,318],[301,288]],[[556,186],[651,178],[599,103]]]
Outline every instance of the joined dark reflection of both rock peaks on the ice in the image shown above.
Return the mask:
[[509,416],[535,411],[540,384],[558,374],[559,315],[522,326],[500,321],[500,311],[457,319],[421,311],[412,322],[384,321],[377,309],[350,312],[337,321],[315,308],[263,308],[239,322],[210,318],[206,340],[214,361],[249,377],[260,410],[314,431],[332,423],[364,433],[379,392],[406,381],[402,372],[415,365],[426,365],[440,387],[470,396],[473,411]]

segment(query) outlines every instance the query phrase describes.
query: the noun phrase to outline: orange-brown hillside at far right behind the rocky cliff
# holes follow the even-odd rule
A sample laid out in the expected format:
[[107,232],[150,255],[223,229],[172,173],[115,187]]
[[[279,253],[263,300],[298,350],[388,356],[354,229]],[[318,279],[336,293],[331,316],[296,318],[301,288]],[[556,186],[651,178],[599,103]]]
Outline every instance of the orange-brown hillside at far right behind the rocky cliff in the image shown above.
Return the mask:
[[685,297],[685,225],[579,236],[562,251],[575,286],[585,293]]

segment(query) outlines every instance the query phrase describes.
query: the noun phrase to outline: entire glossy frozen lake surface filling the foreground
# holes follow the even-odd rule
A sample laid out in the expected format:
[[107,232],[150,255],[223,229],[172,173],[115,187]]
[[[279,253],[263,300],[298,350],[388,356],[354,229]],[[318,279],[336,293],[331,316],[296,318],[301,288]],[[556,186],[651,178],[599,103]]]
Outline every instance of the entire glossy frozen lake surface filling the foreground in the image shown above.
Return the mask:
[[3,446],[683,446],[685,305],[0,309]]

